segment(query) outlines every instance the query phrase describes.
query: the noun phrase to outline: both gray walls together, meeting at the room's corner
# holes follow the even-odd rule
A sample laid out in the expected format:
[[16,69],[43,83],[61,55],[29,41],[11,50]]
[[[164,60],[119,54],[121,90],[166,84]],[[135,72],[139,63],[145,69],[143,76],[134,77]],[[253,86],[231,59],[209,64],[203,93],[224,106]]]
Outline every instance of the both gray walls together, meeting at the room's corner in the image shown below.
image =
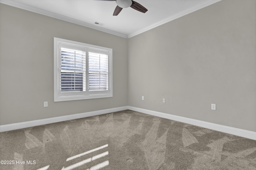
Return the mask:
[[[112,48],[114,97],[53,102],[53,37]],[[255,0],[130,39],[0,4],[0,125],[130,105],[256,131],[255,47]]]

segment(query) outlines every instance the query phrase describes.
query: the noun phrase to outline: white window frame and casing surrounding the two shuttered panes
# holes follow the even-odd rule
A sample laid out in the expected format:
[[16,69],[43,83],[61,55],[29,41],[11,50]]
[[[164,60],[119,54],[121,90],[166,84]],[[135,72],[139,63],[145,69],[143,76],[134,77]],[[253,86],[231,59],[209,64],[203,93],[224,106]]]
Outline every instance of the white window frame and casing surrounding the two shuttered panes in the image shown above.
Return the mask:
[[[71,47],[75,50],[82,50],[86,52],[86,63],[88,63],[88,50],[96,49],[108,53],[108,90],[89,91],[61,91],[61,47]],[[86,65],[87,66],[87,65]],[[88,81],[88,66],[86,67],[86,82]],[[86,84],[87,85],[87,84]],[[56,101],[72,101],[83,99],[97,99],[113,97],[112,85],[112,49],[107,47],[100,47],[82,42],[75,42],[54,37],[54,102]]]

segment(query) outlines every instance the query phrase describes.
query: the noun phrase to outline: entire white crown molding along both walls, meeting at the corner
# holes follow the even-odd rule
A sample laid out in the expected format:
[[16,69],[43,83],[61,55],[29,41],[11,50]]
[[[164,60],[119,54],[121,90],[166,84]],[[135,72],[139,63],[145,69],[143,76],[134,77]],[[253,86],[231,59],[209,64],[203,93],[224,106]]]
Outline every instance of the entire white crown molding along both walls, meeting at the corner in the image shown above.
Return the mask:
[[115,31],[112,31],[112,30],[108,30],[106,28],[102,28],[102,27],[99,27],[99,26],[94,26],[92,24],[89,24],[89,23],[86,23],[86,22],[82,22],[82,21],[79,21],[79,20],[75,20],[75,19],[72,19],[72,18],[68,18],[66,16],[62,16],[62,15],[59,15],[59,14],[56,14],[54,12],[49,12],[49,11],[46,11],[46,10],[42,10],[42,9],[39,9],[39,8],[36,8],[36,7],[33,7],[33,6],[29,6],[29,5],[26,5],[26,4],[22,4],[20,2],[16,2],[16,1],[12,1],[12,0],[0,0],[0,3],[2,4],[6,4],[6,5],[9,5],[9,6],[14,6],[16,8],[20,8],[20,9],[23,9],[23,10],[27,10],[27,11],[30,11],[30,12],[35,12],[37,14],[41,14],[41,15],[44,15],[44,16],[49,16],[49,17],[52,17],[52,18],[56,18],[56,19],[59,19],[59,20],[63,20],[63,21],[66,21],[66,22],[71,22],[73,24],[77,24],[77,25],[80,25],[80,26],[85,26],[85,27],[88,27],[88,28],[92,28],[94,30],[98,30],[98,31],[102,31],[102,32],[106,32],[108,34],[113,34],[115,36],[120,36],[120,37],[123,37],[123,38],[131,38],[133,36],[136,36],[138,34],[141,34],[143,32],[146,32],[148,30],[151,30],[152,28],[155,28],[155,27],[158,27],[162,24],[165,24],[167,22],[170,22],[172,20],[175,20],[177,18],[180,18],[182,16],[185,16],[187,14],[190,14],[192,12],[195,12],[196,10],[200,10],[202,8],[205,8],[206,6],[209,6],[209,5],[212,5],[216,2],[220,2],[221,0],[207,0],[207,1],[204,1],[196,6],[193,6],[192,8],[188,8],[182,12],[179,12],[177,14],[174,14],[172,16],[169,16],[159,22],[156,22],[155,24],[152,24],[146,28],[142,28],[136,32],[133,32],[129,35],[126,35],[126,34],[122,34],[120,32],[115,32]]

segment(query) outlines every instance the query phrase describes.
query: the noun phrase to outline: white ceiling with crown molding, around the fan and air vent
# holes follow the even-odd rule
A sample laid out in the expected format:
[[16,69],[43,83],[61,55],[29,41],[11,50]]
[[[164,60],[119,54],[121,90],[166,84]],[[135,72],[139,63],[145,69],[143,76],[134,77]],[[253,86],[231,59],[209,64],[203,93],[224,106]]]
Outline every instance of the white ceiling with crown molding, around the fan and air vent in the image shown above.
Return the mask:
[[148,11],[144,14],[129,7],[112,16],[116,2],[98,0],[0,0],[0,3],[130,38],[220,0],[135,1]]

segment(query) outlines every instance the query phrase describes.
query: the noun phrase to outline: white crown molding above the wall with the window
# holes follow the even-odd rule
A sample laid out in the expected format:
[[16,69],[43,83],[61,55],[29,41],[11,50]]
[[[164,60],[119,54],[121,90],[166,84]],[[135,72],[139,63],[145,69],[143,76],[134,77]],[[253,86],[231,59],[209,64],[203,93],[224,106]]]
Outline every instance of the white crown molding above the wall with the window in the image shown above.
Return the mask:
[[69,18],[69,17],[66,17],[66,16],[56,14],[54,12],[49,12],[49,11],[42,10],[42,9],[39,9],[39,8],[36,8],[36,7],[33,7],[33,6],[22,4],[20,2],[16,2],[16,1],[12,1],[12,0],[0,0],[0,3],[1,4],[6,4],[6,5],[9,5],[9,6],[13,6],[13,7],[16,7],[16,8],[20,8],[22,10],[27,10],[27,11],[34,12],[34,13],[37,13],[37,14],[41,14],[41,15],[44,15],[44,16],[49,16],[49,17],[52,17],[52,18],[63,20],[63,21],[66,21],[66,22],[70,22],[70,23],[73,23],[73,24],[77,24],[77,25],[80,25],[80,26],[84,26],[84,27],[87,27],[87,28],[92,28],[94,30],[98,30],[98,31],[101,31],[101,32],[106,32],[108,34],[113,34],[115,36],[128,38],[126,34],[115,32],[115,31],[112,31],[112,30],[108,30],[106,28],[94,26],[92,24],[88,24],[88,23],[82,22],[80,20],[75,20],[75,19],[72,19],[72,18]]

